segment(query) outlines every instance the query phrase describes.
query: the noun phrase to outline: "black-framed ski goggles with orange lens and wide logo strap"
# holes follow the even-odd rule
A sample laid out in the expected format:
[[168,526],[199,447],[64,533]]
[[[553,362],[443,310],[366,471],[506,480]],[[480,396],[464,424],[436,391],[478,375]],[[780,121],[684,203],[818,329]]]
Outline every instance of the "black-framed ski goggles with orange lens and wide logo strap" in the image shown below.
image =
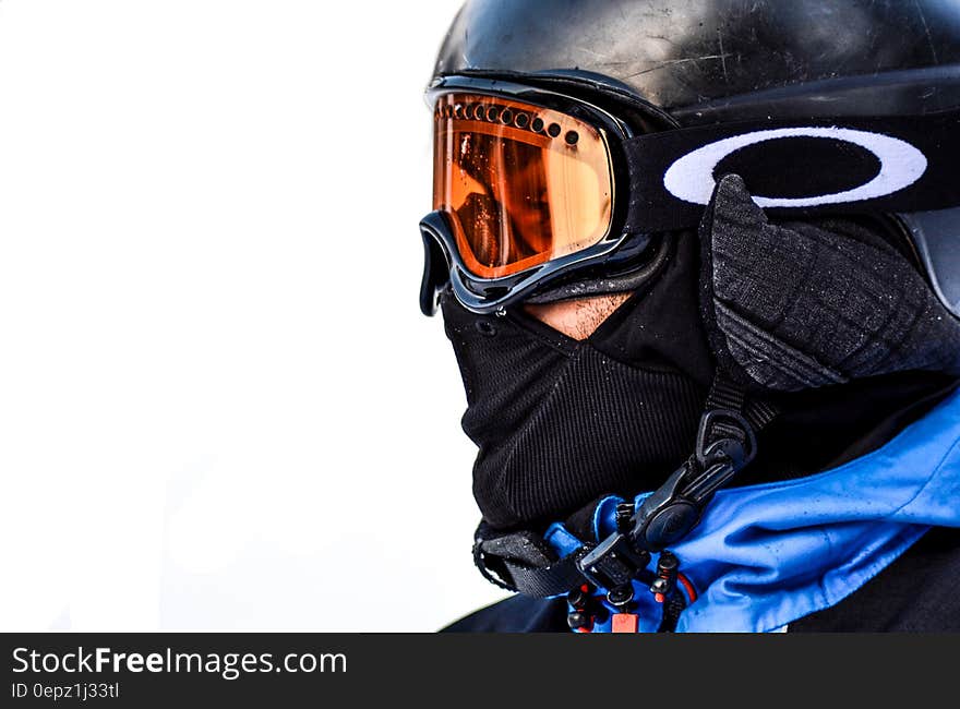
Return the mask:
[[562,277],[641,260],[650,235],[697,226],[725,172],[744,177],[775,216],[960,204],[956,111],[644,132],[593,103],[512,82],[446,76],[427,96],[428,315],[447,285],[466,308],[489,313]]

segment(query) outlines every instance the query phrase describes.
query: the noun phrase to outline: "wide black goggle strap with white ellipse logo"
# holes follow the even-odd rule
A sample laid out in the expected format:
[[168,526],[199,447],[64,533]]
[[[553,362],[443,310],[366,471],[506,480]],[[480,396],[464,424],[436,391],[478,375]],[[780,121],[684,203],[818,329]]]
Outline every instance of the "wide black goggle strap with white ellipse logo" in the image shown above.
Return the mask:
[[[718,145],[727,139],[734,140]],[[711,147],[700,151],[705,146]],[[818,202],[806,206],[760,203],[775,218],[960,206],[957,109],[923,116],[703,125],[638,135],[624,144],[624,151],[631,193],[624,229],[627,232],[695,228],[715,179],[731,172],[744,178],[756,199],[761,195]],[[677,168],[681,158],[685,161]],[[783,169],[783,165],[790,169]],[[688,169],[681,169],[684,166]],[[876,196],[857,197],[865,194],[857,190],[881,170],[884,179],[874,182],[876,189],[871,191]],[[677,196],[677,192],[686,196]]]

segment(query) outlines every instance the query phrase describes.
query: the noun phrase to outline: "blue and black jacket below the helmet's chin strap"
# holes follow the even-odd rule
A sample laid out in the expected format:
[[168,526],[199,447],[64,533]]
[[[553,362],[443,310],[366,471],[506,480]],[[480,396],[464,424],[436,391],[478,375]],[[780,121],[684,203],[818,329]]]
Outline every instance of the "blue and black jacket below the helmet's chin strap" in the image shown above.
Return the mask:
[[[598,508],[598,538],[612,530],[619,502],[610,498]],[[801,618],[837,616],[841,605],[857,618],[860,629],[915,629],[897,627],[890,617],[903,618],[920,608],[926,609],[921,625],[927,623],[927,629],[960,628],[960,604],[945,593],[960,575],[960,533],[938,532],[929,551],[929,544],[916,542],[931,527],[960,528],[960,393],[879,449],[843,466],[720,491],[700,524],[672,550],[698,593],[676,629],[797,629]],[[551,527],[547,537],[561,555],[580,544],[562,525]],[[904,554],[914,545],[916,551]],[[896,572],[891,565],[901,556],[899,566],[907,570]],[[884,582],[871,584],[888,567]],[[932,598],[941,599],[940,608]],[[639,586],[637,599],[639,630],[655,630],[659,604]],[[565,617],[562,606],[562,599],[518,599],[449,629],[561,629],[554,626]],[[874,609],[873,621],[865,609]],[[527,615],[528,626],[536,618],[545,625],[524,627],[517,611]],[[892,627],[875,627],[884,623]],[[595,632],[609,626],[608,621]]]

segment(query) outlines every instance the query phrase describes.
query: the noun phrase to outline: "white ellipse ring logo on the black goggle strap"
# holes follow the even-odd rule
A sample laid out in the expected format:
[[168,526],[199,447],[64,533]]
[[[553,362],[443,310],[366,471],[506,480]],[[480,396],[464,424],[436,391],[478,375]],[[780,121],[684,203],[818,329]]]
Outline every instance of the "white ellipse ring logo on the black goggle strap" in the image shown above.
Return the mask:
[[[849,128],[779,128],[725,137],[687,153],[663,175],[663,187],[673,196],[694,204],[708,204],[713,193],[713,170],[736,151],[782,137],[826,137],[853,143],[869,151],[880,163],[879,173],[860,187],[811,197],[754,196],[761,207],[813,207],[820,204],[860,202],[892,194],[916,182],[926,170],[926,157],[900,139]],[[790,169],[790,166],[784,166]]]

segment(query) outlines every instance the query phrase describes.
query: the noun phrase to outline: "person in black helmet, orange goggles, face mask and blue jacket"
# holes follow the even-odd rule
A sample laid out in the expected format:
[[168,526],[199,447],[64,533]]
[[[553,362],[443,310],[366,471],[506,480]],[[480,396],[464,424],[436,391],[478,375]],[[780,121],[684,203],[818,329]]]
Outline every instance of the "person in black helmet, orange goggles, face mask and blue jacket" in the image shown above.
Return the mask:
[[444,629],[960,630],[960,5],[469,0],[428,101]]

